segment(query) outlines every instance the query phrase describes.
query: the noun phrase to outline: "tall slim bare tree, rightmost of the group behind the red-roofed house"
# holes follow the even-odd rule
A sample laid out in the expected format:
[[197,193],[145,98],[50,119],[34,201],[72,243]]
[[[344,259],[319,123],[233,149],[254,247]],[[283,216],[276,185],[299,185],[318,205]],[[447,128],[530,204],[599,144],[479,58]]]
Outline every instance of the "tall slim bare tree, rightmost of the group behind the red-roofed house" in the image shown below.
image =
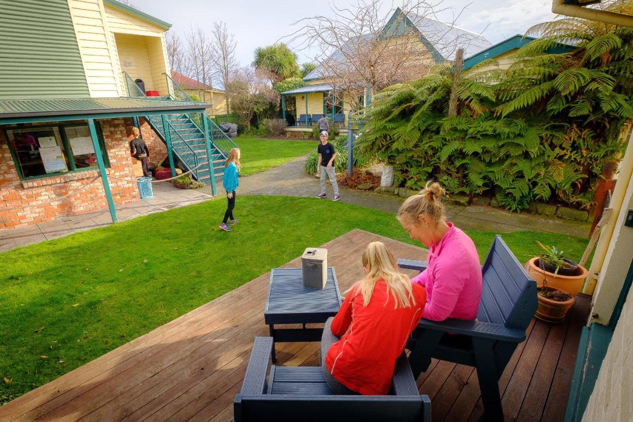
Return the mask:
[[229,108],[229,90],[230,80],[235,70],[239,67],[237,59],[235,59],[235,48],[237,42],[233,34],[229,34],[227,24],[224,22],[213,23],[213,31],[211,31],[211,65],[213,66],[213,74],[216,78],[222,80],[225,98],[227,101],[227,114],[230,113]]

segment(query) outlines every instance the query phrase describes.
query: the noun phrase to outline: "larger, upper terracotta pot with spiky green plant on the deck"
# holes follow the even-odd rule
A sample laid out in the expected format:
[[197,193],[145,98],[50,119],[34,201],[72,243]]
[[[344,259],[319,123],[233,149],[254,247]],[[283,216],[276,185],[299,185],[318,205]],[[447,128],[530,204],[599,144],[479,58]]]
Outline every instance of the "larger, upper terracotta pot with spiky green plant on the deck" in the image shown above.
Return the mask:
[[548,287],[567,291],[572,297],[580,293],[587,278],[587,269],[566,258],[564,252],[555,246],[537,243],[543,252],[525,264],[525,271],[536,280],[537,286],[547,284]]

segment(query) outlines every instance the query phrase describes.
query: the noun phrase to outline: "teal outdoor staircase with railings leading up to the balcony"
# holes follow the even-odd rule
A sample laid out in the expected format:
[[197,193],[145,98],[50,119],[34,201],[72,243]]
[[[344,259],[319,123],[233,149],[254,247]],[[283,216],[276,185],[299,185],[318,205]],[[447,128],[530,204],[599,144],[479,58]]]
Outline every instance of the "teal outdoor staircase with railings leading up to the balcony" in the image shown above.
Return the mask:
[[[128,96],[146,96],[126,72],[123,72],[123,74],[125,76]],[[193,101],[169,75],[165,76],[167,78],[168,87],[170,87],[170,98],[179,101]],[[213,180],[209,172],[206,139],[204,130],[202,129],[206,124],[209,131],[210,145],[208,146],[208,150],[211,155],[213,176],[215,176],[215,181],[222,179],[224,176],[224,162],[229,156],[229,151],[231,148],[237,148],[237,145],[232,139],[230,139],[211,118],[203,113],[165,115],[165,118],[173,153],[179,158],[180,162],[187,167],[187,170],[191,170],[192,175],[197,181],[212,184]],[[203,121],[203,118],[206,122]],[[165,130],[163,129],[162,117],[160,115],[148,115],[145,116],[144,119],[147,120],[154,132],[158,134],[163,142],[168,144]],[[215,186],[213,190],[215,191]]]

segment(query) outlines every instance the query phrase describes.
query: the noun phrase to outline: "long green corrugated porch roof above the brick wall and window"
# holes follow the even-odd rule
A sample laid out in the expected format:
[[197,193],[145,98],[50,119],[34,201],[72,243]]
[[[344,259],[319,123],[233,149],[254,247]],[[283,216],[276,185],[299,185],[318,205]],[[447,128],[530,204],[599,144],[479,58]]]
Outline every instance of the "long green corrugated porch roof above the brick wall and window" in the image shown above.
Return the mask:
[[62,98],[0,100],[0,124],[73,118],[129,117],[203,112],[210,104],[153,98]]

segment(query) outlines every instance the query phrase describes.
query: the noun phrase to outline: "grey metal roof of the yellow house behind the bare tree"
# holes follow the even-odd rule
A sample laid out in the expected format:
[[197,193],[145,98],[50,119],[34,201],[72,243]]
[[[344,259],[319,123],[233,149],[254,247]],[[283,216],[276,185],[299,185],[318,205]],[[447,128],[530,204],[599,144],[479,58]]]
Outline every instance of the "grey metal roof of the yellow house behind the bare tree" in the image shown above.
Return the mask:
[[[482,49],[489,48],[492,45],[483,35],[475,34],[474,32],[425,16],[418,16],[415,13],[410,12],[404,15],[400,8],[396,8],[396,11],[394,11],[389,21],[383,27],[382,31],[385,36],[398,33],[398,29],[392,27],[398,16],[403,16],[404,23],[418,33],[420,41],[429,49],[436,63],[454,60],[455,53],[459,47],[465,49],[465,55],[470,55]],[[344,57],[341,50],[337,49],[334,53],[330,54],[329,60],[342,61]],[[325,74],[327,74],[327,71],[319,65],[306,75],[303,80],[322,79]]]

